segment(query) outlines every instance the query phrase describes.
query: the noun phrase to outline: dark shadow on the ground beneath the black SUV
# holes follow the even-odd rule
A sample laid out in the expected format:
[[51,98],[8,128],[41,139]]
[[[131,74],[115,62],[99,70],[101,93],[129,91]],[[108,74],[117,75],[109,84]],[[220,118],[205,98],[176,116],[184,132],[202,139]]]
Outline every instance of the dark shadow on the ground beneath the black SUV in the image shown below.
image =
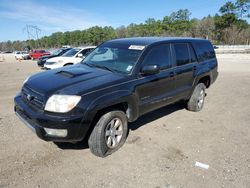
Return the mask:
[[[138,120],[136,120],[133,123],[129,123],[129,131],[134,131],[145,124],[148,124],[152,121],[155,121],[159,118],[162,118],[164,116],[167,116],[173,112],[179,111],[184,109],[185,106],[183,103],[175,103],[172,105],[168,105],[166,107],[160,108],[158,110],[155,110],[153,112],[150,112],[148,114],[145,114],[141,116]],[[128,131],[128,134],[129,134]],[[58,148],[62,150],[83,150],[83,149],[88,149],[88,140],[84,139],[83,141],[77,142],[77,143],[55,143]]]

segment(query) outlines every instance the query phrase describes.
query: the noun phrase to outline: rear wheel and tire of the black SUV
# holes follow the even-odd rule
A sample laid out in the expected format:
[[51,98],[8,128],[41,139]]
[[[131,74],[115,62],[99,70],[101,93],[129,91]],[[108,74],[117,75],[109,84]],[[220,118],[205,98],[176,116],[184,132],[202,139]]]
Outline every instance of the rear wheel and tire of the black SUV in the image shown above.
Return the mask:
[[205,96],[206,86],[203,83],[199,83],[187,102],[187,109],[193,112],[201,111],[204,106]]

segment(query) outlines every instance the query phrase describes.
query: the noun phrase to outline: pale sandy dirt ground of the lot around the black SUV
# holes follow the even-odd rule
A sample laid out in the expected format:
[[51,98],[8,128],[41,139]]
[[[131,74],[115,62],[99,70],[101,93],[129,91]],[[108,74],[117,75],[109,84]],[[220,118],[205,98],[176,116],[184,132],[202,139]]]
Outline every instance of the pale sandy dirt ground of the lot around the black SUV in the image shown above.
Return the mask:
[[32,61],[1,62],[0,188],[250,187],[250,55],[218,59],[220,75],[201,112],[172,105],[147,114],[104,159],[86,144],[58,148],[38,139],[15,116],[13,97],[40,70]]

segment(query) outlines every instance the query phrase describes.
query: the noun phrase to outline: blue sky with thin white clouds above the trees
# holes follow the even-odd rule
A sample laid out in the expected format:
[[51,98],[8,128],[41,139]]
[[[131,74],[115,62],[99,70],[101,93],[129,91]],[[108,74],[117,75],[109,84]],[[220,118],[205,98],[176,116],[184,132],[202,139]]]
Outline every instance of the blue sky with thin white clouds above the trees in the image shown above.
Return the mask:
[[[92,26],[129,25],[147,18],[162,19],[179,9],[191,18],[218,13],[227,0],[0,0],[0,41],[27,40],[27,25],[38,36],[83,30]],[[35,35],[35,30],[30,29]],[[35,36],[34,36],[35,37]]]

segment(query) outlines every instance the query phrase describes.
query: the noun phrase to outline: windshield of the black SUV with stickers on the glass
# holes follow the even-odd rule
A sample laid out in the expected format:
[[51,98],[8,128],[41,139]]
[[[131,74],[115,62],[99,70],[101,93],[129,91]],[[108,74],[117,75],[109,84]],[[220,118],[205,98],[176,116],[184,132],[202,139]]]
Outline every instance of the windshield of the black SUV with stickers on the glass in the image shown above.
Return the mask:
[[129,74],[138,61],[142,50],[126,46],[100,46],[91,52],[82,63],[112,72]]

